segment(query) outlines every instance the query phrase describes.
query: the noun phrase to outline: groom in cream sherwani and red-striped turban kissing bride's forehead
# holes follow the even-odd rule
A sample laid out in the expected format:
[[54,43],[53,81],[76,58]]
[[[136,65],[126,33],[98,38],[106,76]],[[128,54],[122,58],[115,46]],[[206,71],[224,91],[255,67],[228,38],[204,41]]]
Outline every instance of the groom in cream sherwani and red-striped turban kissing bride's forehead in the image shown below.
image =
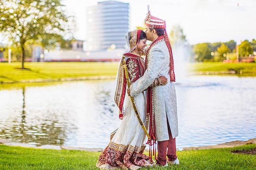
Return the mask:
[[[152,16],[149,10],[145,25],[147,40],[152,41],[148,48],[145,47],[147,70],[127,92],[129,96],[134,97],[147,89],[149,135],[152,143],[158,141],[156,164],[160,166],[168,166],[168,163],[179,164],[175,143],[175,137],[178,136],[178,118],[171,44],[166,33],[165,21]],[[165,76],[168,83],[149,87],[159,76]]]

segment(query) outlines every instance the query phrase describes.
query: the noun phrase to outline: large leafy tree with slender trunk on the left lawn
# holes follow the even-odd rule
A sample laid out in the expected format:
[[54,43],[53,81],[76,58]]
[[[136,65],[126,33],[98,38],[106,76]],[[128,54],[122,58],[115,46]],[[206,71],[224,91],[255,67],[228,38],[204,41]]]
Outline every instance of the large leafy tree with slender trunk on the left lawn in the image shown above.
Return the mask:
[[25,48],[29,41],[39,41],[46,47],[70,31],[65,24],[69,17],[64,14],[60,0],[1,0],[0,32],[14,46],[20,47],[24,69]]

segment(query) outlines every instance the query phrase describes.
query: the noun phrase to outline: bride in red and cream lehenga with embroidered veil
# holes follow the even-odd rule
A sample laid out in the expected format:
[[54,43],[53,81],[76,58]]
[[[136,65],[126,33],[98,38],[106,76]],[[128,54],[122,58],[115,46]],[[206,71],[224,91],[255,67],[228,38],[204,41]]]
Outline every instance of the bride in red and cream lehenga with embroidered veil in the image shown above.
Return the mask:
[[[143,76],[145,72],[145,61],[140,54],[146,47],[146,34],[142,30],[129,31],[126,35],[128,50],[123,54],[128,67],[131,84]],[[167,78],[160,76],[151,86],[163,85]],[[151,159],[144,155],[147,142],[132,106],[131,99],[126,95],[126,79],[124,67],[120,63],[117,73],[117,87],[115,91],[115,103],[119,108],[119,118],[122,119],[120,127],[115,132],[108,146],[100,154],[96,166],[105,169],[131,169],[137,170],[142,166],[151,166]],[[148,129],[146,114],[146,91],[134,97],[141,119]]]

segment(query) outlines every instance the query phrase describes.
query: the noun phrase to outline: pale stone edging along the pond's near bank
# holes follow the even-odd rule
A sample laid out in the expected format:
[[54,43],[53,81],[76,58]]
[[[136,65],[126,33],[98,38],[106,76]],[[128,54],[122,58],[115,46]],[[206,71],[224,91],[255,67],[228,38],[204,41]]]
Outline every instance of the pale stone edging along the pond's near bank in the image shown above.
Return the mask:
[[[21,147],[28,147],[28,148],[41,148],[41,149],[54,149],[54,150],[83,150],[83,151],[89,151],[89,152],[102,152],[103,148],[84,148],[84,147],[73,147],[73,146],[59,146],[59,145],[40,145],[36,146],[34,144],[29,143],[19,143],[14,141],[9,141],[6,139],[0,138],[0,145],[6,145],[6,146],[21,146]],[[181,151],[184,150],[207,150],[207,149],[216,149],[216,148],[232,148],[236,146],[242,146],[242,145],[250,145],[250,144],[256,144],[256,138],[249,139],[247,141],[230,141],[226,143],[221,143],[217,145],[208,145],[208,146],[197,146],[197,147],[185,147],[182,148]]]

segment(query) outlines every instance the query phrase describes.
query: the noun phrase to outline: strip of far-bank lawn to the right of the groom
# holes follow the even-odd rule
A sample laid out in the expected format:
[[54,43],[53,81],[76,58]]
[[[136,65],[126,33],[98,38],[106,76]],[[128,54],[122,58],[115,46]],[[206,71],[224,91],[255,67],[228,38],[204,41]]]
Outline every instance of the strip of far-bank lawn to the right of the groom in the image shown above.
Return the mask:
[[222,63],[222,62],[204,62],[204,63],[191,63],[191,70],[194,72],[206,71],[240,71],[244,73],[256,74],[256,63]]

